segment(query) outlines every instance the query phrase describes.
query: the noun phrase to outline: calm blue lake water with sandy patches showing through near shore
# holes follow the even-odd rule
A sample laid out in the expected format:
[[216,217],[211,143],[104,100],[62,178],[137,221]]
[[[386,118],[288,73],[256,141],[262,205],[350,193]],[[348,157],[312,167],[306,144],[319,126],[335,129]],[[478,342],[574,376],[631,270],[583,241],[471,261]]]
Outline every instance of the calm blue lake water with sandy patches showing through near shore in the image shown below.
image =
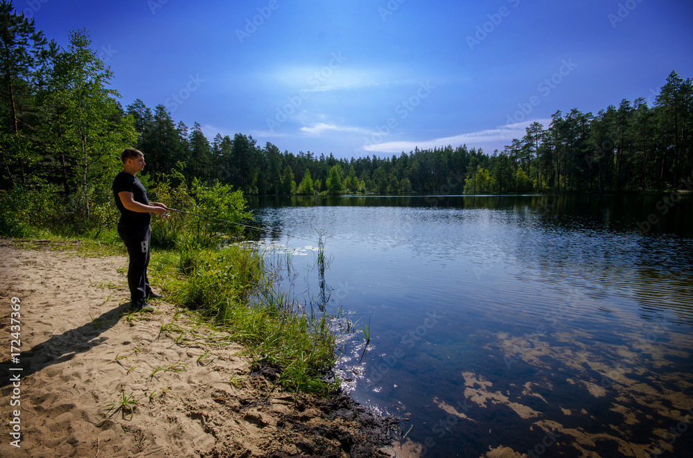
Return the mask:
[[420,455],[674,457],[693,448],[693,196],[676,197],[250,203],[261,241],[295,248],[299,300],[319,294],[322,231],[328,308],[370,323],[340,378],[408,418]]

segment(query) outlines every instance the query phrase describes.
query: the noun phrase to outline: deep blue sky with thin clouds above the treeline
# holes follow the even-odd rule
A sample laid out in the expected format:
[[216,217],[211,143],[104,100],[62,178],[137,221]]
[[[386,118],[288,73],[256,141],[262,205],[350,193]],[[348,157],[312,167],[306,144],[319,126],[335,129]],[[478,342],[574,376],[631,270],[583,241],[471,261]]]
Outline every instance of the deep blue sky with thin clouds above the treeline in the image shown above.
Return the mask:
[[282,151],[486,153],[557,110],[649,104],[693,77],[690,0],[21,0],[67,46],[86,28],[126,106]]

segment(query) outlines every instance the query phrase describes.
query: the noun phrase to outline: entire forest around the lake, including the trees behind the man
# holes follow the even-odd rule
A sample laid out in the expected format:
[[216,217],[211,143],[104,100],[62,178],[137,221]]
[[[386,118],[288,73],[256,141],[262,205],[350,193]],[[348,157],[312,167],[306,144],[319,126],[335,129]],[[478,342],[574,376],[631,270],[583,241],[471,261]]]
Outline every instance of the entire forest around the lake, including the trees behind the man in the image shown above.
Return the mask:
[[0,15],[3,207],[50,201],[85,221],[112,212],[123,147],[146,154],[150,187],[179,176],[188,187],[245,195],[643,192],[677,187],[693,169],[693,83],[676,71],[652,106],[638,98],[597,114],[556,111],[550,125],[534,122],[491,154],[462,145],[347,159],[282,152],[241,133],[210,141],[198,122],[177,122],[163,104],[123,107],[86,30],[71,31],[63,49],[10,1],[0,2]]

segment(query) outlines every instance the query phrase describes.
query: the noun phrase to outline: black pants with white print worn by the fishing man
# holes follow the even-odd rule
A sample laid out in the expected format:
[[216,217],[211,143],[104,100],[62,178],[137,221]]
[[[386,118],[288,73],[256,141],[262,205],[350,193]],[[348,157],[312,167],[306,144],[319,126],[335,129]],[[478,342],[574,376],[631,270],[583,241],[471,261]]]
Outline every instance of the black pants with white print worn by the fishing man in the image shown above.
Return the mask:
[[139,302],[145,299],[152,289],[147,278],[147,266],[149,265],[149,239],[152,234],[147,226],[118,225],[118,235],[125,242],[130,257],[128,266],[128,287],[130,288],[130,300]]

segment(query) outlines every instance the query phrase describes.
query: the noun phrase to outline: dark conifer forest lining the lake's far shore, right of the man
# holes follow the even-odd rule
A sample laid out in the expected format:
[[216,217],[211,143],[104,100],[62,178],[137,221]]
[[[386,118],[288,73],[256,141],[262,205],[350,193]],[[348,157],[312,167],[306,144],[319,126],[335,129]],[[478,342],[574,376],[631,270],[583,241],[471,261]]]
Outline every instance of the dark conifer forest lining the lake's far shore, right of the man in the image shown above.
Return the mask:
[[195,123],[175,123],[159,104],[125,107],[148,152],[150,173],[179,164],[189,179],[220,181],[246,194],[510,194],[665,190],[693,166],[693,83],[673,71],[653,107],[621,100],[593,113],[556,111],[550,125],[532,123],[502,151],[443,147],[399,156],[335,158],[257,145],[252,136],[217,134],[210,143]]

